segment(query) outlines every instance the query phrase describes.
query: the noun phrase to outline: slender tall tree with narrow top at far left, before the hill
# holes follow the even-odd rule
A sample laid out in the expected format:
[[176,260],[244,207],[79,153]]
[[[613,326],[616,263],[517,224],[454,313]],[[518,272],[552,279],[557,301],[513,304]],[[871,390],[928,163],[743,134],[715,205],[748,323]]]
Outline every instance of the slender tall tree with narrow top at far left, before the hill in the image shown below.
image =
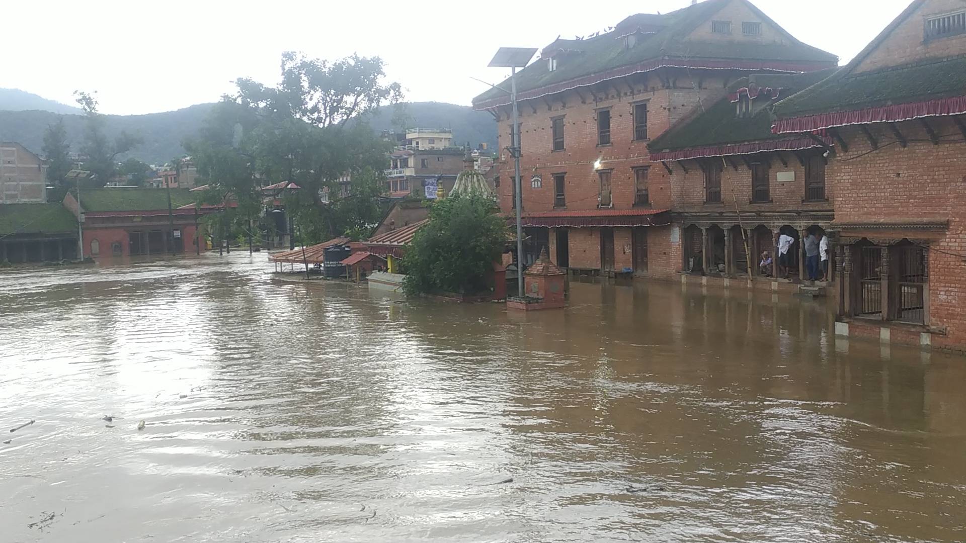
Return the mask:
[[122,130],[113,140],[104,133],[104,116],[98,111],[98,100],[93,94],[74,91],[76,101],[84,110],[84,142],[80,152],[83,168],[94,174],[90,184],[103,186],[118,173],[117,157],[128,153],[143,140]]

